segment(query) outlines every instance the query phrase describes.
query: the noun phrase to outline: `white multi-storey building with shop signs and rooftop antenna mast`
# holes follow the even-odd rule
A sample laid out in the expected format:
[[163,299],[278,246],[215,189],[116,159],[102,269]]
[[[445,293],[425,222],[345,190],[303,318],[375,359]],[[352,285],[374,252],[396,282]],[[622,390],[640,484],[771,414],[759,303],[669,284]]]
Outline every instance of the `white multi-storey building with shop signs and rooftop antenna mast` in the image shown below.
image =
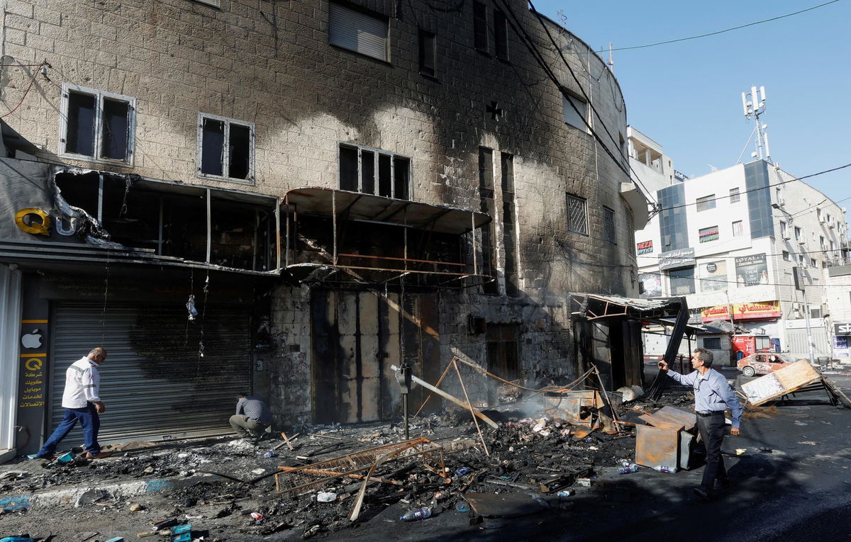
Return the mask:
[[[807,358],[808,308],[814,355],[834,357],[825,285],[847,252],[844,211],[762,160],[678,180],[658,144],[649,153],[658,169],[647,167],[647,153],[633,153],[648,140],[631,133],[631,164],[660,204],[636,232],[641,295],[686,296],[692,323],[726,319]],[[728,349],[716,339],[705,346]]]

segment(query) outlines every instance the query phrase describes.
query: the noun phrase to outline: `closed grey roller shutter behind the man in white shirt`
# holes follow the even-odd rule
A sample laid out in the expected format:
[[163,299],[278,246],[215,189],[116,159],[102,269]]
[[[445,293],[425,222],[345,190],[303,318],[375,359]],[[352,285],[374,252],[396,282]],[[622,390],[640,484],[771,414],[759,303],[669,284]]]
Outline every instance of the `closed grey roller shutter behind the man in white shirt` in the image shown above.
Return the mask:
[[[230,430],[237,392],[251,379],[248,313],[208,307],[194,323],[186,308],[60,304],[54,310],[51,431],[62,419],[68,366],[93,347],[100,370],[100,442],[163,440]],[[203,330],[203,333],[202,333]],[[203,341],[203,357],[198,355]],[[79,427],[70,444],[82,442]]]

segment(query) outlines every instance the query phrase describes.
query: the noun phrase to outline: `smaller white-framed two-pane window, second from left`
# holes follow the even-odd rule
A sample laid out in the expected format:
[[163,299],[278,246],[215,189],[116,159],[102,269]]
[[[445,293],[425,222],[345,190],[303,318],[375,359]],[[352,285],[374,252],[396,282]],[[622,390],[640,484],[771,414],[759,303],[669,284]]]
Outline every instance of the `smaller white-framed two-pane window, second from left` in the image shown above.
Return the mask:
[[254,124],[198,114],[198,175],[254,182]]

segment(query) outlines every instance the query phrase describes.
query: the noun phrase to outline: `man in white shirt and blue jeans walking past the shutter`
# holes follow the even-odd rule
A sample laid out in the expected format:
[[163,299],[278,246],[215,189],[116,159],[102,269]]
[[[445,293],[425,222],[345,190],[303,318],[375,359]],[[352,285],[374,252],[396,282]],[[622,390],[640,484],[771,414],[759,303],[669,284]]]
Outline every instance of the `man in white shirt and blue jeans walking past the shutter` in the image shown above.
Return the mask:
[[100,400],[100,373],[98,366],[106,360],[106,350],[102,347],[93,348],[88,356],[77,359],[65,371],[65,392],[62,393],[62,408],[65,417],[42,449],[38,450],[37,458],[52,459],[56,446],[68,436],[77,421],[83,426],[83,442],[86,446],[86,457],[100,459],[108,457],[100,451],[98,430],[100,429],[100,413],[106,407]]

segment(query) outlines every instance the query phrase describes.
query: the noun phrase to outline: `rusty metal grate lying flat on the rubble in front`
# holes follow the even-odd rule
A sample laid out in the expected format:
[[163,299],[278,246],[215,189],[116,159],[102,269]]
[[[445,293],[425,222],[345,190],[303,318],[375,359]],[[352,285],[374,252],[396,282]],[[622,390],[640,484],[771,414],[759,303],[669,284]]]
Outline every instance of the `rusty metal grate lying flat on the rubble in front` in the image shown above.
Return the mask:
[[[288,467],[279,466],[283,472],[275,475],[275,487],[278,494],[306,494],[321,488],[326,483],[340,477],[357,477],[358,473],[369,471],[373,466],[386,461],[411,460],[417,457],[424,459],[423,466],[430,471],[445,476],[446,466],[443,463],[443,447],[432,443],[427,438],[413,438],[401,443],[385,444],[375,448],[364,449],[351,454],[340,455],[333,459],[319,461],[312,465]],[[432,464],[426,462],[431,461]],[[370,474],[370,479],[372,475]]]

